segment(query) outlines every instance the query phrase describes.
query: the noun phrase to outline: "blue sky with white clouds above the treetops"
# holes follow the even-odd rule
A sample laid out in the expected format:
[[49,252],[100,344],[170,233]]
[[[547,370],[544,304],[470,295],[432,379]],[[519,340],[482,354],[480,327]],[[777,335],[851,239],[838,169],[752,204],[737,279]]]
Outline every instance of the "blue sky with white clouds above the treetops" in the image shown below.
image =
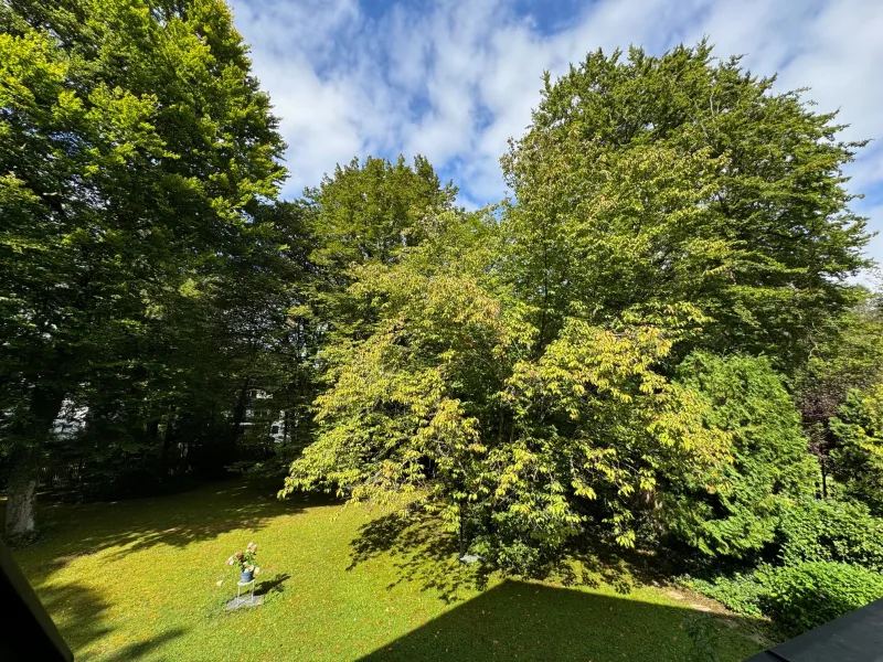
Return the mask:
[[[338,162],[429,158],[479,206],[506,194],[499,158],[553,76],[586,52],[662,53],[708,35],[719,56],[778,72],[840,109],[844,139],[873,141],[850,166],[857,211],[883,229],[883,2],[880,0],[233,0],[288,142],[285,194]],[[871,254],[883,261],[883,237]]]

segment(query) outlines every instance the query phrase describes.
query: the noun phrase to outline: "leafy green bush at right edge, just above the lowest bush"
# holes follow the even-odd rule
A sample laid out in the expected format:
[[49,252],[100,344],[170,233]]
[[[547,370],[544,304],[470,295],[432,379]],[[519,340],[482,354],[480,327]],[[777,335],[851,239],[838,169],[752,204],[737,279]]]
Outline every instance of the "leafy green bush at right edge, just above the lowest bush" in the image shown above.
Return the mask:
[[883,519],[862,503],[806,500],[783,513],[779,540],[786,566],[834,560],[883,570]]

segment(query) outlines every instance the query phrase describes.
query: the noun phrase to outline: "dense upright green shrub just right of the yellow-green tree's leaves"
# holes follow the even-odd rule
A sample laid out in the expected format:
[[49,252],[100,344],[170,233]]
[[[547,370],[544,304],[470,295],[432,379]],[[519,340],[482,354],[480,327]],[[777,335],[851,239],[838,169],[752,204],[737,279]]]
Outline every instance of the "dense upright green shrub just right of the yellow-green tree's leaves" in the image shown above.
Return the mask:
[[[816,465],[781,377],[763,356],[693,352],[678,381],[708,405],[705,424],[732,435],[733,463],[694,484],[672,481],[661,516],[675,538],[709,556],[746,558],[775,540],[781,511],[813,492]],[[716,471],[716,470],[715,470]]]

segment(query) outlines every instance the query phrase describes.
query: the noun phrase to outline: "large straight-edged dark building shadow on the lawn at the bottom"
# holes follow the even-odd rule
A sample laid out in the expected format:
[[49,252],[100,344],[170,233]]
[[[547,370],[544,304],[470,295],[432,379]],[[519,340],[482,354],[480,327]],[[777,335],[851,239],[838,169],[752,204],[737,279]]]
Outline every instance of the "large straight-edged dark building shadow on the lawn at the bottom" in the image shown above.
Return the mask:
[[[701,612],[585,590],[506,580],[363,656],[407,660],[673,662],[695,659],[684,629]],[[735,662],[759,651],[751,619],[714,623],[715,649]]]

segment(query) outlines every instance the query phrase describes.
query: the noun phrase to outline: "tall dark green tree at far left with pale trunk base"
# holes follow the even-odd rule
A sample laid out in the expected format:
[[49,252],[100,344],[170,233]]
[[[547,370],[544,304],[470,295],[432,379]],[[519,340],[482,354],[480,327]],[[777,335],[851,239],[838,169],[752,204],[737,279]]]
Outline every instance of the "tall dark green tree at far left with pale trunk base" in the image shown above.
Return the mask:
[[94,363],[211,299],[259,245],[283,148],[220,0],[0,8],[9,533],[33,525],[52,423]]

